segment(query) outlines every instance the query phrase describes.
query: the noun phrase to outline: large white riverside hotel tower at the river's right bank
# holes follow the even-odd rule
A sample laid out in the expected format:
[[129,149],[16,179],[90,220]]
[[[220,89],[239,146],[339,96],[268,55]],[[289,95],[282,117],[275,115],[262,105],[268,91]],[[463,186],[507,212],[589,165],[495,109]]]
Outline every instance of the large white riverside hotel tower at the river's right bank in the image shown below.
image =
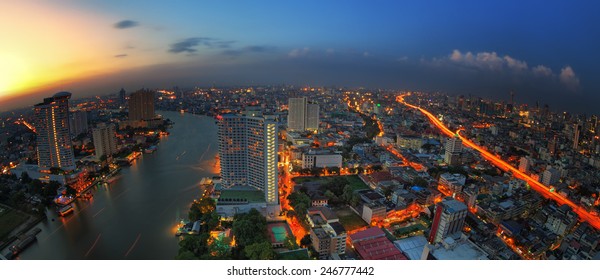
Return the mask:
[[223,115],[218,135],[223,186],[264,191],[265,202],[278,205],[276,120],[250,114]]

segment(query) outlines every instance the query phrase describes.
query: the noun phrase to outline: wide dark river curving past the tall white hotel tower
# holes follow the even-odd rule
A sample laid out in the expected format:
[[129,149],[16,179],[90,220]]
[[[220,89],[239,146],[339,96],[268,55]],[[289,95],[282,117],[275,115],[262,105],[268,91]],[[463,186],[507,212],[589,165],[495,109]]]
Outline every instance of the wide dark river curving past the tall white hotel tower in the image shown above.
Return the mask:
[[206,116],[161,112],[175,122],[158,150],[122,168],[108,186],[94,187],[75,212],[48,219],[20,259],[162,259],[177,255],[174,226],[200,196],[203,177],[215,175],[217,126]]

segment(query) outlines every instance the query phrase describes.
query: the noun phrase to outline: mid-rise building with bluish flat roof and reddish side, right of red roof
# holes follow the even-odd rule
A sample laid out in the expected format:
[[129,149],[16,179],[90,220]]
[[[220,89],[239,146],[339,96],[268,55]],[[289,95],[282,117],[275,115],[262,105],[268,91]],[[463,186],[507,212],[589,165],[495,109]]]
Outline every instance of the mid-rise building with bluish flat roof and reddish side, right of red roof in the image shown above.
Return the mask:
[[440,242],[450,235],[461,232],[467,217],[467,206],[447,197],[435,205],[433,213],[429,243]]

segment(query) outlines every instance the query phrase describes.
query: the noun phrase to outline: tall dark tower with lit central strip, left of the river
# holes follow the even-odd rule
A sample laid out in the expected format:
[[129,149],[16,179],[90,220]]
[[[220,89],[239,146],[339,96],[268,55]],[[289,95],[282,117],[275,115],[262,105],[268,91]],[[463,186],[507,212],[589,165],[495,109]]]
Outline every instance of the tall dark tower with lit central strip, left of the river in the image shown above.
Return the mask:
[[71,93],[59,92],[34,107],[40,168],[75,169],[69,133],[69,98]]

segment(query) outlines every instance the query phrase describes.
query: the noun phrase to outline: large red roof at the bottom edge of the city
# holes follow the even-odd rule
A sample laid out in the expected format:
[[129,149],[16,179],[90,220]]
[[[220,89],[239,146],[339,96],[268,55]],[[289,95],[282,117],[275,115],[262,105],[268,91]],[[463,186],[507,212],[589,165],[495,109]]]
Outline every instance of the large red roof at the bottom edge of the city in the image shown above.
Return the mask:
[[385,237],[361,240],[354,243],[354,249],[363,260],[406,260],[391,241]]

